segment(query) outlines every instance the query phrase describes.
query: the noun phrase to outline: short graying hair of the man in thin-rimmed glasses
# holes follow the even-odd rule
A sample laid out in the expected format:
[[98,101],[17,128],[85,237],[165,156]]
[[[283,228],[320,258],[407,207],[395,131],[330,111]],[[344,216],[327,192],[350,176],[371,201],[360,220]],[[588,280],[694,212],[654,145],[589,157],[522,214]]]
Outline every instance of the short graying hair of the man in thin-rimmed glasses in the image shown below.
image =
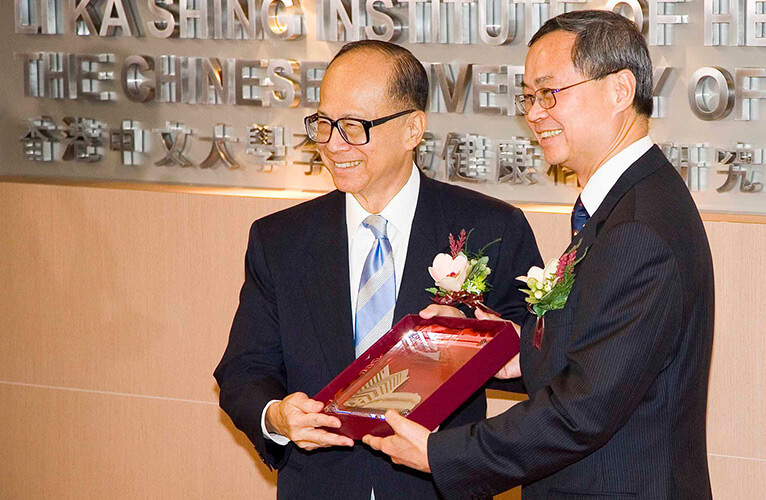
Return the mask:
[[633,108],[647,117],[652,115],[652,60],[646,40],[632,21],[603,10],[568,12],[543,24],[529,46],[554,31],[576,35],[572,63],[584,77],[599,80],[623,69],[630,70],[636,77]]

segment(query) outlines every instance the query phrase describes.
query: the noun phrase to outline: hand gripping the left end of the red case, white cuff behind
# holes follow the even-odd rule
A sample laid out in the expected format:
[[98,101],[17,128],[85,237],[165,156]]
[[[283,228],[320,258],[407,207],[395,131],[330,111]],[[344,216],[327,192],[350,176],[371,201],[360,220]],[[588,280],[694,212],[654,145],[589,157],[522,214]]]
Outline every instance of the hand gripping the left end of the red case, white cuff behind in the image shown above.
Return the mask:
[[274,403],[266,410],[266,429],[281,434],[304,450],[327,446],[354,446],[354,441],[317,427],[340,427],[337,418],[319,413],[324,408],[320,401],[296,392]]

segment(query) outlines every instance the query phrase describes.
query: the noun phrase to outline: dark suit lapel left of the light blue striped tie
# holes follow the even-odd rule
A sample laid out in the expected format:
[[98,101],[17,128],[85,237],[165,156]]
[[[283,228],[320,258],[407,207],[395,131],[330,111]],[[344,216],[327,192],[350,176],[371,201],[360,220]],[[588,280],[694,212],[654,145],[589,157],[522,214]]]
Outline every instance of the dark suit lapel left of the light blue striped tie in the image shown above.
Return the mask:
[[334,377],[354,361],[345,195],[337,192],[318,214],[309,248],[306,299],[322,354]]

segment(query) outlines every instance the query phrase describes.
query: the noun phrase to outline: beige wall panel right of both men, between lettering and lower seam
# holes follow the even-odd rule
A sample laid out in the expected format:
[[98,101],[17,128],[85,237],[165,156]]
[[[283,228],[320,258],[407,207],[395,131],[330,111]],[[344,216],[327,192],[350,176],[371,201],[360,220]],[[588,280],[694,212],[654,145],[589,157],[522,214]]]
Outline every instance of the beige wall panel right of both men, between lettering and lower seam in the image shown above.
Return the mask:
[[705,227],[717,302],[708,452],[766,459],[766,225]]

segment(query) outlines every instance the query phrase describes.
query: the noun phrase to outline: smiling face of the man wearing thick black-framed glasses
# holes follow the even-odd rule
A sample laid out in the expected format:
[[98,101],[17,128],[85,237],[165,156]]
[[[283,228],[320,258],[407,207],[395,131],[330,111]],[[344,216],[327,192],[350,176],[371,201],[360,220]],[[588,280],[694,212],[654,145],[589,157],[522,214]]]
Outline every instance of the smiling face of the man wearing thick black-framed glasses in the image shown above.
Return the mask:
[[[409,109],[388,95],[391,74],[389,60],[374,50],[340,56],[322,79],[319,115],[375,120]],[[412,150],[424,130],[425,113],[418,111],[372,127],[367,144],[352,146],[334,129],[330,141],[317,146],[335,186],[377,213],[409,179]]]

